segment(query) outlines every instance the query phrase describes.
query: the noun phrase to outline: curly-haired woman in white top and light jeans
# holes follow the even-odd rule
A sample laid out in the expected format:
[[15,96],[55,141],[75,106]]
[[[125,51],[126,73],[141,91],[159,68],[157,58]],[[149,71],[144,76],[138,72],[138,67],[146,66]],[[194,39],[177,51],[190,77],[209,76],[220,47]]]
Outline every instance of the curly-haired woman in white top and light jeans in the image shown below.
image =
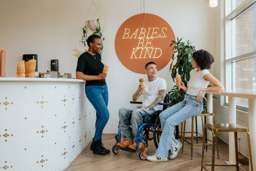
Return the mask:
[[[169,159],[177,157],[182,145],[173,134],[175,126],[202,112],[205,92],[224,90],[221,82],[208,71],[213,62],[213,56],[206,50],[198,50],[193,53],[191,63],[194,69],[190,72],[188,87],[185,87],[182,81],[180,83],[180,88],[186,92],[185,98],[160,113],[163,132],[157,151],[153,156],[147,157],[149,161],[165,162],[168,157]],[[212,84],[212,87],[207,87],[209,83]],[[179,86],[177,82],[176,85]],[[171,150],[170,153],[169,150]]]

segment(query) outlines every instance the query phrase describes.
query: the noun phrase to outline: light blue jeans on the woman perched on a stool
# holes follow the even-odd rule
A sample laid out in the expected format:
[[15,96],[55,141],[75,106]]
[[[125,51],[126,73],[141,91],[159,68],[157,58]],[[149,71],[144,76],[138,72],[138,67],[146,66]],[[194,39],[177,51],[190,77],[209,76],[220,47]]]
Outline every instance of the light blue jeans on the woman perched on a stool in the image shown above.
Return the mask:
[[[159,117],[163,132],[155,153],[157,157],[168,157],[168,151],[169,149],[172,149],[171,144],[181,145],[181,143],[175,139],[173,134],[175,126],[186,119],[201,113],[203,111],[202,97],[201,101],[202,102],[199,103],[196,96],[186,94],[183,101],[167,108],[160,113]],[[172,141],[175,141],[175,143],[172,143]]]

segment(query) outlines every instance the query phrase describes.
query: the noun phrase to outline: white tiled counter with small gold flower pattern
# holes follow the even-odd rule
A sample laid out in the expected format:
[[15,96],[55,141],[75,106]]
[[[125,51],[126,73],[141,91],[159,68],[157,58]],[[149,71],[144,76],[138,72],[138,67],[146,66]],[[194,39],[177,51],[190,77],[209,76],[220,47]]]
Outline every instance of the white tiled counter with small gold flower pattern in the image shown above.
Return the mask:
[[0,78],[0,170],[62,171],[90,143],[83,80]]

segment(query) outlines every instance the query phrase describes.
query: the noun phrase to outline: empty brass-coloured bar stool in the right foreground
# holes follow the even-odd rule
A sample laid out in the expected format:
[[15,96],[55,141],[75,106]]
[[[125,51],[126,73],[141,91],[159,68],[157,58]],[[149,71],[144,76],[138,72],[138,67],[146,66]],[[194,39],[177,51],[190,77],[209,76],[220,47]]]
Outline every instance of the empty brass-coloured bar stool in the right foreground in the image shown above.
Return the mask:
[[[212,131],[212,164],[204,164],[204,146],[205,141],[203,142],[203,151],[202,151],[202,163],[201,163],[201,171],[203,168],[208,171],[205,166],[212,166],[211,171],[214,171],[214,166],[236,166],[236,171],[239,171],[239,163],[238,163],[238,148],[237,148],[237,132],[247,132],[247,139],[248,139],[248,149],[249,149],[249,157],[250,157],[250,168],[253,171],[253,160],[251,154],[251,147],[250,147],[250,135],[249,135],[249,128],[243,127],[238,124],[204,124],[204,140],[206,137],[206,130]],[[234,132],[235,136],[235,152],[236,152],[236,164],[235,165],[215,165],[215,137],[217,132]]]

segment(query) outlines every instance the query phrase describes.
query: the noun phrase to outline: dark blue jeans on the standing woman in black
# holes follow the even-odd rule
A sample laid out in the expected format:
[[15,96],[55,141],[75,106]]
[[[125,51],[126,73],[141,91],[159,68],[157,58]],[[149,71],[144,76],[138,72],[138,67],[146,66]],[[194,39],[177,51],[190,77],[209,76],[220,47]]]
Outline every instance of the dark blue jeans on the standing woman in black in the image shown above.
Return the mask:
[[96,110],[94,139],[102,139],[102,132],[109,119],[108,86],[85,86],[85,94]]

